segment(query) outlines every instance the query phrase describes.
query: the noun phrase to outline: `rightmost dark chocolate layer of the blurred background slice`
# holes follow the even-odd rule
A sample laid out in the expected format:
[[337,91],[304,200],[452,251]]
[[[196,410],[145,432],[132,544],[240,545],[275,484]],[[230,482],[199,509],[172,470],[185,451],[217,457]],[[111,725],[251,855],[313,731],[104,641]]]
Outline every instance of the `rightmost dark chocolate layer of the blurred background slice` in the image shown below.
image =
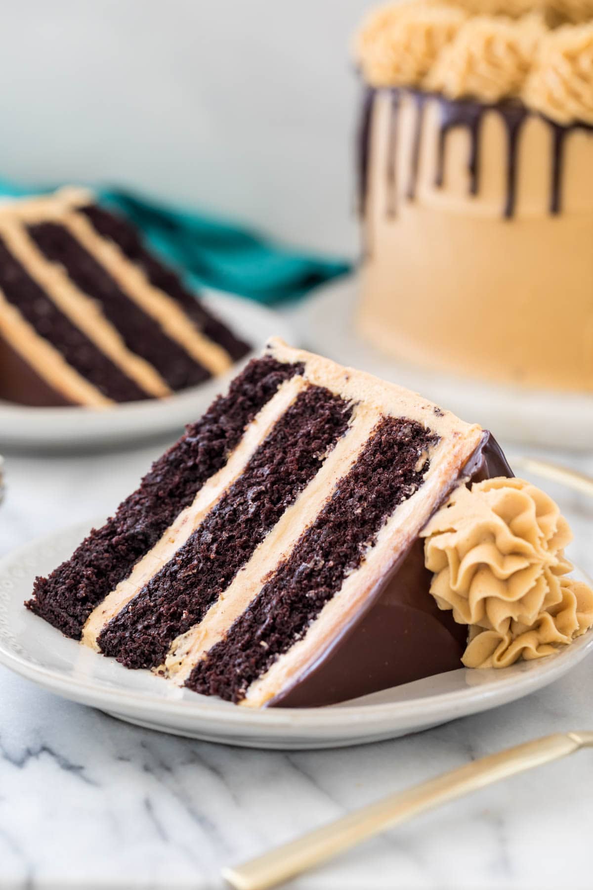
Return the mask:
[[221,321],[214,318],[210,312],[207,312],[204,306],[197,301],[196,296],[187,287],[184,287],[180,277],[172,269],[148,253],[130,223],[96,204],[80,207],[79,212],[86,216],[102,238],[113,241],[124,256],[140,266],[153,287],[158,287],[165,294],[177,300],[196,327],[205,336],[220,344],[233,360],[238,361],[247,354],[249,346],[236,337]]

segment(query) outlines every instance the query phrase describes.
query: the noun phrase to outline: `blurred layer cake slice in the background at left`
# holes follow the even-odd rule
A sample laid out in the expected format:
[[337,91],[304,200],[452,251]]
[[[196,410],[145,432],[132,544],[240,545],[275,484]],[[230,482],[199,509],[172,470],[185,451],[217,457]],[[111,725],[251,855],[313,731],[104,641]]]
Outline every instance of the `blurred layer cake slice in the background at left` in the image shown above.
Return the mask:
[[0,206],[0,399],[105,408],[163,398],[246,352],[92,193]]

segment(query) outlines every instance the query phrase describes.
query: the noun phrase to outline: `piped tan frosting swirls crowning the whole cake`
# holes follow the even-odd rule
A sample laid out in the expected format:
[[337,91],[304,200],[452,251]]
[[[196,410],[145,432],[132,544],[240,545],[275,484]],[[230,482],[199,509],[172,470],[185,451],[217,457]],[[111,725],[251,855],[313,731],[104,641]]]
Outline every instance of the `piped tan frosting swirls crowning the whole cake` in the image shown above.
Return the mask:
[[411,0],[373,12],[357,36],[355,55],[375,87],[411,86],[486,103],[520,99],[563,125],[590,123],[589,16],[593,4],[584,2],[478,7],[469,0]]

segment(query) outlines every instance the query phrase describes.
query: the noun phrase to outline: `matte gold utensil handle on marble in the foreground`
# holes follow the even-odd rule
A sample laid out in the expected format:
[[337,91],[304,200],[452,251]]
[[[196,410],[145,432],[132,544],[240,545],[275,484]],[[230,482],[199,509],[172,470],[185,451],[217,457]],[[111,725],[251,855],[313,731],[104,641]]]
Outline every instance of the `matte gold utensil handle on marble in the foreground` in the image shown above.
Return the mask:
[[267,890],[420,813],[591,744],[593,733],[557,732],[482,757],[355,810],[242,865],[224,869],[222,876],[236,890]]

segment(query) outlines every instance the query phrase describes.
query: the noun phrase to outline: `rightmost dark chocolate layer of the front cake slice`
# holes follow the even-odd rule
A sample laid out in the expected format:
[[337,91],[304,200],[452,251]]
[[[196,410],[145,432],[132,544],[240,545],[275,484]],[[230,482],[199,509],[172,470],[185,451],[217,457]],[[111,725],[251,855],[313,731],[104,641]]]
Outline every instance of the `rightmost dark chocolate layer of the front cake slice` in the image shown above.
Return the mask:
[[187,685],[238,702],[249,686],[307,633],[325,603],[356,570],[397,505],[429,470],[437,437],[406,418],[387,417],[338,482],[316,522],[243,615],[198,661]]

